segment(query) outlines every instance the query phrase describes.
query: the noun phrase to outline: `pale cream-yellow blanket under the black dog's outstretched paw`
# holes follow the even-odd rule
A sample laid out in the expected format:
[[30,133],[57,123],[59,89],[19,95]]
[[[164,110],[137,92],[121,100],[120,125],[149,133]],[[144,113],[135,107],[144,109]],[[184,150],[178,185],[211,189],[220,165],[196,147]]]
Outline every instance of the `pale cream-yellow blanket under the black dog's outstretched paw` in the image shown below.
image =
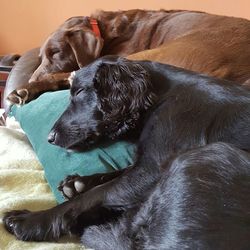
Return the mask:
[[58,243],[22,242],[3,228],[3,213],[11,209],[41,210],[55,205],[44,171],[18,125],[0,126],[0,250],[82,249],[75,239]]

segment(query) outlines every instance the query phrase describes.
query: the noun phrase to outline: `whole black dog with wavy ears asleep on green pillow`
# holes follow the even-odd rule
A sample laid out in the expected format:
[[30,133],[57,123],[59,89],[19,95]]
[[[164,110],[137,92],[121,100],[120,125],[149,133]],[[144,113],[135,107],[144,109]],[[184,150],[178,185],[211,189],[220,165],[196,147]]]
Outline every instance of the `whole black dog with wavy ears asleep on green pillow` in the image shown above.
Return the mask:
[[250,248],[250,92],[169,65],[98,59],[75,73],[49,141],[71,150],[141,131],[135,164],[60,185],[52,209],[5,214],[18,239],[79,233],[93,249]]

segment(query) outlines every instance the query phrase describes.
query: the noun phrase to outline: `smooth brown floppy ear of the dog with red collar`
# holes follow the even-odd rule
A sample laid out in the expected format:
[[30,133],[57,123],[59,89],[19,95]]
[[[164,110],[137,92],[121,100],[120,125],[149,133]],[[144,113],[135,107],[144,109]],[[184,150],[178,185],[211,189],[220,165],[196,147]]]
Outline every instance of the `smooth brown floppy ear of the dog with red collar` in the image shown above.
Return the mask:
[[92,31],[83,29],[70,30],[66,34],[66,39],[74,52],[80,68],[93,62],[100,56],[103,39],[97,37]]

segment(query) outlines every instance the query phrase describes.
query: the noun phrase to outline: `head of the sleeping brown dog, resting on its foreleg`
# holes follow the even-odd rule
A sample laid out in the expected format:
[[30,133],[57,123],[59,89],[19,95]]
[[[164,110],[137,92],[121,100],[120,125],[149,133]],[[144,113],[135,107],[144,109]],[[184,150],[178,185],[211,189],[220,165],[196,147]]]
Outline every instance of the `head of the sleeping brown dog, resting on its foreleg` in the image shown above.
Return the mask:
[[72,17],[52,33],[40,49],[41,64],[30,82],[47,74],[77,70],[100,56],[103,39],[91,28],[88,17]]

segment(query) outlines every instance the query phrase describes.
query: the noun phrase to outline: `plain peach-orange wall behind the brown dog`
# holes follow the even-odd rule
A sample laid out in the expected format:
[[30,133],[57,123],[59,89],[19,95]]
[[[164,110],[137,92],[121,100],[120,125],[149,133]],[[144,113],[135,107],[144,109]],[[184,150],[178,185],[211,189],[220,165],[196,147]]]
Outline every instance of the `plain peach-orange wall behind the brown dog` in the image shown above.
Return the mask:
[[39,46],[68,17],[131,8],[202,10],[250,19],[250,0],[0,0],[0,54]]

